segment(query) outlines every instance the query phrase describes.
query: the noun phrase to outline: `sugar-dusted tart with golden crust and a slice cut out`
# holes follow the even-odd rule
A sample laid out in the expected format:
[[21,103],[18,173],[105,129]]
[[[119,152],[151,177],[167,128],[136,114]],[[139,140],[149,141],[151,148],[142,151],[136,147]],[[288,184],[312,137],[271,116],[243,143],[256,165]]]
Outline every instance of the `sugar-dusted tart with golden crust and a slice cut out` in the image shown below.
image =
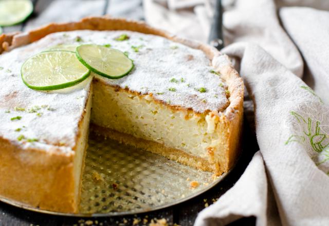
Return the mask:
[[[118,39],[124,34],[127,38]],[[135,68],[109,80],[36,91],[21,81],[31,55],[60,45],[110,44]],[[228,56],[142,22],[87,17],[0,35],[0,196],[79,212],[89,127],[120,142],[221,175],[239,154],[243,81]],[[90,126],[89,126],[90,124]]]

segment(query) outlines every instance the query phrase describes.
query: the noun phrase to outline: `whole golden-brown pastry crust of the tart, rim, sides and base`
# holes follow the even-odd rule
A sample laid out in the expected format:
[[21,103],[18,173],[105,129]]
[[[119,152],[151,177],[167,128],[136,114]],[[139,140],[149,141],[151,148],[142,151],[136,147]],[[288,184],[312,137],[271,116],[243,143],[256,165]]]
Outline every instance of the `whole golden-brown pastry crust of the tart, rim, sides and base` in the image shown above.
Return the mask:
[[[204,159],[193,157],[180,150],[158,148],[156,142],[145,142],[137,145],[139,140],[131,140],[130,144],[138,147],[151,145],[155,152],[179,162],[192,165],[217,175],[227,172],[235,163],[239,154],[240,135],[243,123],[243,81],[230,64],[227,56],[215,48],[182,39],[163,30],[155,29],[143,22],[129,21],[121,18],[86,17],[79,22],[52,23],[44,27],[23,33],[10,33],[0,35],[0,53],[13,48],[27,45],[42,39],[47,34],[72,30],[130,30],[145,34],[154,34],[166,37],[195,49],[202,50],[212,60],[212,66],[219,71],[228,85],[230,92],[229,106],[222,111],[219,121],[221,129],[218,130],[223,138],[221,143],[221,156],[216,156],[214,150],[209,150],[209,165]],[[179,106],[171,106],[182,110]],[[83,117],[79,128],[83,125]],[[127,135],[115,134],[113,131],[98,126],[92,126],[98,133],[108,135],[122,142],[128,142]],[[81,133],[77,134],[77,140]],[[10,140],[0,137],[0,196],[27,203],[31,206],[50,211],[78,212],[78,202],[75,198],[74,184],[74,153],[64,153],[60,147],[52,146],[52,151],[43,152],[40,149],[23,149]],[[74,147],[73,149],[76,150]],[[224,149],[223,149],[224,148]],[[224,153],[224,154],[223,154]],[[179,160],[179,156],[183,156]]]

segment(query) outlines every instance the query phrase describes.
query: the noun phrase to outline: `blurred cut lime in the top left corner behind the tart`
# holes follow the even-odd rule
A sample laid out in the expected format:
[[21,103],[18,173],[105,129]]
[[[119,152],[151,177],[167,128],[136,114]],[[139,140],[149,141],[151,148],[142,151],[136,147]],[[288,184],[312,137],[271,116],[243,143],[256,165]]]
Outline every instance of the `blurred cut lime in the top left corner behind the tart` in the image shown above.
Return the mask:
[[33,12],[30,0],[1,0],[0,26],[10,26],[23,22]]

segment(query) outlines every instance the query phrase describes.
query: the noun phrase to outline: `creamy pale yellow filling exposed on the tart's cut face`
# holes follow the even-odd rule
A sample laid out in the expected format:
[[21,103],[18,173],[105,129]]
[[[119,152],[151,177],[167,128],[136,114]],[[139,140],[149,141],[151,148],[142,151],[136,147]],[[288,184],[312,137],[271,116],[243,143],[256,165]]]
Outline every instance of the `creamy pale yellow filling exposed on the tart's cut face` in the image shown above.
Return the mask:
[[[176,110],[157,103],[152,96],[94,83],[92,122],[137,138],[156,141],[191,155],[207,158],[218,146],[216,117]],[[217,120],[218,121],[218,120]]]

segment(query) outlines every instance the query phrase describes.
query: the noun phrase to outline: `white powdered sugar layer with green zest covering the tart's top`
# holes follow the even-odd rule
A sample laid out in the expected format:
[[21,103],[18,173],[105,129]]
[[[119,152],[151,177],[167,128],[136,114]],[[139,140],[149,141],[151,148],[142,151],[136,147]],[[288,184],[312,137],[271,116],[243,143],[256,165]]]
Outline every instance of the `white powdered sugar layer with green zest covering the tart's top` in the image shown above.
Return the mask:
[[[116,41],[123,33],[130,39]],[[23,84],[20,69],[29,56],[49,47],[84,43],[111,44],[134,60],[135,68],[128,76],[118,80],[101,78],[108,84],[143,94],[153,93],[160,101],[196,112],[223,111],[229,104],[225,83],[211,72],[210,61],[200,50],[159,36],[130,31],[59,32],[0,55],[0,84],[5,84],[0,89],[1,137],[17,143],[38,139],[38,142],[24,142],[25,145],[75,145],[91,79],[68,90],[41,92]],[[40,109],[28,111],[35,106]],[[25,110],[17,110],[17,107]],[[17,116],[22,118],[12,120]],[[18,141],[21,135],[24,138]]]

